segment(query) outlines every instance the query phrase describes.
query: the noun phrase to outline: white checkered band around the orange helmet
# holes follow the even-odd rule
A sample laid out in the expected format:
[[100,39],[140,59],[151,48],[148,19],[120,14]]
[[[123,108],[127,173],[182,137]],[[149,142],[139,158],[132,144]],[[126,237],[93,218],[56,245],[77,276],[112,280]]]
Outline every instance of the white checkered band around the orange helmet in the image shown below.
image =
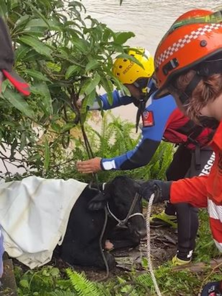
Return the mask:
[[192,31],[190,35],[185,35],[183,38],[180,38],[177,42],[174,42],[172,46],[169,46],[164,52],[162,52],[155,59],[155,67],[159,67],[168,57],[170,57],[174,52],[177,52],[179,49],[183,48],[184,45],[190,43],[192,40],[195,40],[199,35],[204,35],[206,32],[211,32],[212,30],[217,30],[222,27],[222,24],[209,24],[204,27],[198,28],[195,31]]

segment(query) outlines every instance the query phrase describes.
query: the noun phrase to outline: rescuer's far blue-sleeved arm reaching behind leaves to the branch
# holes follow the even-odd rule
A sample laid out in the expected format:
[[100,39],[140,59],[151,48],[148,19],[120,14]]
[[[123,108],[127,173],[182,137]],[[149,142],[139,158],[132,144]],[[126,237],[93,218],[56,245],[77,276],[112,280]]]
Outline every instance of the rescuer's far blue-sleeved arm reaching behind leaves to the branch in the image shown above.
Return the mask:
[[[101,105],[103,110],[113,109],[122,105],[128,105],[134,102],[134,98],[132,96],[126,96],[123,91],[113,91],[113,103],[110,105],[108,102],[107,94],[103,94],[99,96],[101,100]],[[100,110],[100,104],[98,103],[97,99],[95,100],[94,104],[89,107],[89,110]]]

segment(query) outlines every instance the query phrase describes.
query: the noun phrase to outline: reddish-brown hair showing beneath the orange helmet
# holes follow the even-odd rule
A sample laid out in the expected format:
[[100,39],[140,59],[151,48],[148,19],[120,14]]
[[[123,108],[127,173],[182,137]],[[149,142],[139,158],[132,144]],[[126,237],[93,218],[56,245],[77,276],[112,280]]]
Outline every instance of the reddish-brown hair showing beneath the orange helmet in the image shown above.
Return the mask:
[[[196,71],[189,70],[187,73],[180,75],[175,82],[175,86],[179,91],[184,91],[190,83]],[[184,106],[187,116],[197,121],[200,110],[210,101],[214,101],[222,94],[222,73],[213,74],[203,77],[192,92],[192,97]]]

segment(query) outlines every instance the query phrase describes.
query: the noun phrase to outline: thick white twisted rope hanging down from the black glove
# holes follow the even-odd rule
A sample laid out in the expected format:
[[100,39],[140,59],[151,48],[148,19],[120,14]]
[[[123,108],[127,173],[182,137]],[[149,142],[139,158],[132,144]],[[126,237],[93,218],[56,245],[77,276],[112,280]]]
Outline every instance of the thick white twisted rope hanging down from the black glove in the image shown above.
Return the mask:
[[158,287],[158,284],[156,282],[156,278],[153,271],[152,261],[151,261],[151,255],[150,255],[150,214],[151,214],[151,207],[154,200],[154,193],[151,194],[149,204],[148,204],[148,210],[147,210],[147,217],[146,217],[146,229],[147,229],[147,259],[148,259],[148,265],[150,270],[150,275],[153,280],[153,284],[156,290],[156,294],[158,296],[162,296],[160,289]]

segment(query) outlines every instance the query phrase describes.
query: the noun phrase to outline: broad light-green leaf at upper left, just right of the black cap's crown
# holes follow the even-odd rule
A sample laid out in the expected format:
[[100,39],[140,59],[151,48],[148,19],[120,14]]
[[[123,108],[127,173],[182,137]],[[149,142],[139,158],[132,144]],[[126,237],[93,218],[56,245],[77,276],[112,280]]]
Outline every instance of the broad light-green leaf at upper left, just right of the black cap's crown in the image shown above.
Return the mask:
[[42,54],[42,55],[52,59],[52,57],[51,57],[52,50],[46,44],[39,41],[37,38],[24,35],[24,36],[21,36],[18,40],[21,41],[22,43],[25,43],[25,44],[31,46],[39,54]]

